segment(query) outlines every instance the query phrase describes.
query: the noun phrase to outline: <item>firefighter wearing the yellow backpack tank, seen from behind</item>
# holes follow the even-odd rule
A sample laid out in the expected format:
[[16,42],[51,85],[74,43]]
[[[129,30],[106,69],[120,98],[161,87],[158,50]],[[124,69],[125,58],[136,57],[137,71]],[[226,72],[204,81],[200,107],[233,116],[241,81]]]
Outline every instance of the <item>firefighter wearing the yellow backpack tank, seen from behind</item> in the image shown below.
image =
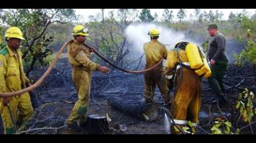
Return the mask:
[[[201,84],[200,76],[195,70],[190,68],[189,60],[185,53],[185,47],[189,42],[179,42],[173,50],[170,50],[165,63],[165,75],[174,76],[175,90],[172,99],[170,113],[174,122],[171,122],[170,131],[172,134],[180,134],[180,128],[187,126],[192,122],[190,127],[195,133],[197,126],[200,102],[201,102]],[[189,127],[189,126],[188,126]]]

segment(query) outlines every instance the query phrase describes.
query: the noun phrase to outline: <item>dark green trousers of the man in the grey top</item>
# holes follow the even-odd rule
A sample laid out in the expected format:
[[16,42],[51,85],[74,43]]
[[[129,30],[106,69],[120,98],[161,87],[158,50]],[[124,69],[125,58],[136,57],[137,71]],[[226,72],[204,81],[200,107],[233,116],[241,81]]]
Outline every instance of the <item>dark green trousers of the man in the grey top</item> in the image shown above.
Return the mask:
[[210,88],[214,91],[215,95],[224,95],[225,86],[223,84],[223,77],[227,71],[229,62],[216,61],[215,65],[210,65],[212,75],[208,78]]

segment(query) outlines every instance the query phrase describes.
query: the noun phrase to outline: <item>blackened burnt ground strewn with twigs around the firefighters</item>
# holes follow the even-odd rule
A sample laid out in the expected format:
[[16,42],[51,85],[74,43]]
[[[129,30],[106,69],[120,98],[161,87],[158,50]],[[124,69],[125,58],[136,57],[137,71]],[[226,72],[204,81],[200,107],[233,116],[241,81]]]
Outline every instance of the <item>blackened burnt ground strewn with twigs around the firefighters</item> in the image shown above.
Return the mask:
[[[46,68],[36,68],[31,73],[31,79],[36,81]],[[202,106],[199,114],[198,134],[208,134],[212,120],[217,117],[227,118],[236,122],[239,115],[235,109],[237,96],[244,87],[256,90],[255,70],[250,66],[237,68],[230,65],[225,76],[228,105],[212,104],[208,100],[213,93],[206,80],[203,80]],[[132,75],[113,70],[103,75],[98,71],[92,73],[91,100],[88,114],[106,113],[111,118],[109,134],[167,134],[164,128],[164,111],[160,110],[156,121],[144,121],[141,116],[144,104],[144,76]],[[71,131],[64,123],[77,100],[76,90],[71,80],[71,66],[67,58],[61,58],[46,81],[34,91],[41,106],[35,109],[33,118],[23,129],[22,134],[87,134],[82,131]],[[173,93],[172,93],[173,95]],[[163,107],[159,90],[155,93],[155,102]],[[255,119],[254,119],[255,121]],[[237,122],[238,127],[247,124]],[[256,126],[252,124],[255,132]],[[241,134],[251,134],[250,127],[244,127]]]

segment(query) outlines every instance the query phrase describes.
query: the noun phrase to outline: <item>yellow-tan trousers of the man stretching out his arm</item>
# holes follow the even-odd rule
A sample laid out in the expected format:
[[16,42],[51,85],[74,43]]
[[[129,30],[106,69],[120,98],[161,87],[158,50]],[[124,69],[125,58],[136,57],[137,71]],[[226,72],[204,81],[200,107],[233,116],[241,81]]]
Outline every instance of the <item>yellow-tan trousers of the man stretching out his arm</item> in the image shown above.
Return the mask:
[[72,80],[77,90],[78,100],[71,111],[67,124],[83,122],[87,116],[91,91],[91,71],[84,69],[85,67],[73,67]]

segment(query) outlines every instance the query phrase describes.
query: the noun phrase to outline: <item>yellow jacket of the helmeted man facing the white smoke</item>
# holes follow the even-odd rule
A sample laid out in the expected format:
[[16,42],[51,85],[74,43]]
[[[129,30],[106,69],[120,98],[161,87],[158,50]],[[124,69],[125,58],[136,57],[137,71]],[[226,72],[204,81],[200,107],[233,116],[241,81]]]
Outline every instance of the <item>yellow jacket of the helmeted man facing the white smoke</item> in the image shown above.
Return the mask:
[[158,40],[151,40],[144,44],[144,51],[145,51],[145,60],[146,65],[145,68],[149,68],[154,66],[156,63],[164,58],[167,58],[167,48],[164,44],[160,43]]

